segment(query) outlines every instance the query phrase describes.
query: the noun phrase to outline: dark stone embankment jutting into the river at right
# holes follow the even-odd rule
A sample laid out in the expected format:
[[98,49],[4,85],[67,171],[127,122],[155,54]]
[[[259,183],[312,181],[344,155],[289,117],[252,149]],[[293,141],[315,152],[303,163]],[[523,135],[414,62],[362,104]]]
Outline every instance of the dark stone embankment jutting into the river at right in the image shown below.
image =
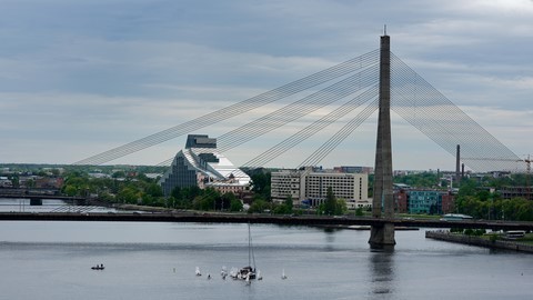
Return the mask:
[[531,244],[510,241],[510,240],[487,240],[480,237],[455,234],[445,230],[425,231],[425,238],[455,242],[455,243],[477,246],[477,247],[485,247],[491,249],[504,249],[504,250],[533,253],[533,246]]

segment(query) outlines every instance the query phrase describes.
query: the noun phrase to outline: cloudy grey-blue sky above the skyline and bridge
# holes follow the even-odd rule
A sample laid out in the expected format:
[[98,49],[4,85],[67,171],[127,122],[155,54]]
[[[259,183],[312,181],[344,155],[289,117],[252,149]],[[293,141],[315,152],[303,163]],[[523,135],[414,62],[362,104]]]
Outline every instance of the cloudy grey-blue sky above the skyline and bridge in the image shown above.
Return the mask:
[[[395,56],[513,152],[533,154],[532,0],[0,0],[0,162],[86,159],[378,49],[385,23]],[[261,113],[194,133],[218,137]],[[396,116],[392,131],[394,169],[454,168],[452,156]],[[268,167],[298,166],[331,134]],[[240,166],[279,136],[227,156]],[[157,164],[184,140],[112,163]],[[372,166],[374,147],[371,119],[322,164]]]

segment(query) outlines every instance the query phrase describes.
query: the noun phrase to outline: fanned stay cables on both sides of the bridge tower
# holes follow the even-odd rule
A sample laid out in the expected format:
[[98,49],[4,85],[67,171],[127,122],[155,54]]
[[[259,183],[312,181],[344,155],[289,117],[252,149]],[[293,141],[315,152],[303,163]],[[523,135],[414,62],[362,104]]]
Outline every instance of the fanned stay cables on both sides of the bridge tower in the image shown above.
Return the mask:
[[[399,57],[392,52],[390,57],[392,111],[452,156],[455,156],[456,146],[460,144],[463,163],[474,171],[525,170],[525,164],[516,163],[522,161],[519,156],[453,104],[450,99]],[[318,118],[296,133],[290,137],[279,134],[278,143],[262,153],[258,153],[242,167],[262,167],[288,150],[296,148],[302,141],[330,124],[339,122],[341,118],[351,117],[311,156],[302,158],[298,167],[318,166],[378,110],[379,69],[380,49],[376,49],[244,101],[77,161],[74,164],[108,163],[171,139],[215,126],[269,103],[282,99],[295,99],[278,110],[218,137],[218,150],[224,152],[243,146],[262,134],[301,120],[303,117],[309,119],[310,116],[314,116],[313,112],[320,109],[334,107],[330,113]],[[319,90],[314,91],[315,89]],[[310,90],[313,92],[304,94]],[[355,114],[355,111],[359,112]],[[171,161],[172,159],[169,159],[161,162],[160,166],[168,166]]]

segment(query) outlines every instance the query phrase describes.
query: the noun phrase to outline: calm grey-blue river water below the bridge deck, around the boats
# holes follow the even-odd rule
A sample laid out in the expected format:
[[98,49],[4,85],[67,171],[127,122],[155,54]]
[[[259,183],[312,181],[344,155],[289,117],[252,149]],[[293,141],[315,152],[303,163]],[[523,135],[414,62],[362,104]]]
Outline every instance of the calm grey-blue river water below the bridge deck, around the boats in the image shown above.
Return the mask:
[[220,277],[248,263],[245,224],[0,222],[0,299],[533,299],[531,254],[424,230],[396,232],[392,253],[370,251],[368,231],[251,230],[263,280],[245,286]]

